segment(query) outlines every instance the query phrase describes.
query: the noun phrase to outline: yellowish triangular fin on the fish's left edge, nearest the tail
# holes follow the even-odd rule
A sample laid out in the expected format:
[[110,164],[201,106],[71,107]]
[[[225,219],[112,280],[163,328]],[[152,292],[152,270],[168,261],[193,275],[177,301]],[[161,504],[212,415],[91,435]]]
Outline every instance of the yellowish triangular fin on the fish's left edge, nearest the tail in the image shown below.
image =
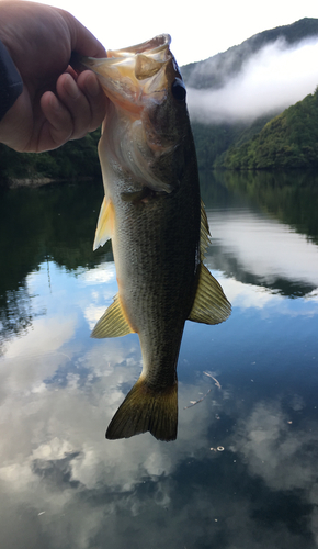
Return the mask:
[[116,295],[113,303],[99,320],[98,324],[91,333],[91,337],[102,339],[103,337],[126,336],[127,334],[132,333],[133,329],[130,328],[126,320],[118,295]]

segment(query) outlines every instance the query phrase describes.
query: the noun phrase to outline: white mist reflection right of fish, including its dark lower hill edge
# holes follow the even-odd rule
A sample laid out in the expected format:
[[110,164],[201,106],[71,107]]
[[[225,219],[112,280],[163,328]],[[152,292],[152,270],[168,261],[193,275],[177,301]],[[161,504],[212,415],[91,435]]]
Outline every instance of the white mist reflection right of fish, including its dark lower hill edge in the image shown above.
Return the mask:
[[242,209],[208,210],[211,266],[236,280],[305,295],[318,287],[317,245],[291,226]]

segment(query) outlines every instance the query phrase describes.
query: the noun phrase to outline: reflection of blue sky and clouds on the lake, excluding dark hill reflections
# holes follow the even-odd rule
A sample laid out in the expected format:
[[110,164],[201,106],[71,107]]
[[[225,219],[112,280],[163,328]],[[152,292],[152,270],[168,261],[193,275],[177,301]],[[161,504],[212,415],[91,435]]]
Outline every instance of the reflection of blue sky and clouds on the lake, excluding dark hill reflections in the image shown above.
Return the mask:
[[[186,324],[173,444],[149,434],[104,439],[141,368],[137,336],[89,338],[116,293],[113,264],[75,274],[50,264],[49,285],[46,265],[27,277],[35,312],[46,315],[0,357],[1,547],[318,547],[317,294],[291,300],[260,287],[273,261],[261,270],[250,261],[239,228],[236,242],[213,228],[214,237],[255,278],[216,272],[232,317]],[[275,255],[275,276],[281,265]],[[286,276],[316,283],[315,262],[306,274],[288,265]]]

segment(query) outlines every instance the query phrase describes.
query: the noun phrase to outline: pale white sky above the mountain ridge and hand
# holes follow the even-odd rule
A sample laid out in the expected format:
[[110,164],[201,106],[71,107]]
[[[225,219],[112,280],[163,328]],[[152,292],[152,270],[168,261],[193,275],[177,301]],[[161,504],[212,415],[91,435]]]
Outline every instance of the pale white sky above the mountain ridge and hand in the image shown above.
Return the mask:
[[261,4],[251,0],[196,0],[182,4],[171,0],[156,3],[48,0],[42,3],[71,12],[105,48],[132,46],[169,33],[171,49],[180,66],[225,52],[268,29],[303,18],[318,18],[317,0],[268,0]]

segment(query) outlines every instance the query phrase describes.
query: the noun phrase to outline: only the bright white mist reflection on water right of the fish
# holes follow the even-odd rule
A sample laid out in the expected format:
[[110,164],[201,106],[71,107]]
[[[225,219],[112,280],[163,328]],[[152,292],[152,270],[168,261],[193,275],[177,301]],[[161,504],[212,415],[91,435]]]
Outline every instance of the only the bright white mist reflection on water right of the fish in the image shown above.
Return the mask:
[[246,272],[268,282],[283,277],[318,288],[317,246],[289,225],[246,210],[207,211],[207,217],[215,242]]

